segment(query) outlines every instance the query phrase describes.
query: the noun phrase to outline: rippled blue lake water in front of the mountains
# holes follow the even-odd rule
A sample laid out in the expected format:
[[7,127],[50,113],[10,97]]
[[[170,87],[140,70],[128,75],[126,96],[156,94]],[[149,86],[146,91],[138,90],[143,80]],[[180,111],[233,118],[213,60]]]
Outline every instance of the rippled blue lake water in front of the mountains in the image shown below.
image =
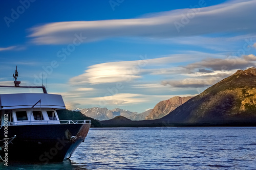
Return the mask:
[[0,169],[256,169],[256,127],[91,128],[70,160]]

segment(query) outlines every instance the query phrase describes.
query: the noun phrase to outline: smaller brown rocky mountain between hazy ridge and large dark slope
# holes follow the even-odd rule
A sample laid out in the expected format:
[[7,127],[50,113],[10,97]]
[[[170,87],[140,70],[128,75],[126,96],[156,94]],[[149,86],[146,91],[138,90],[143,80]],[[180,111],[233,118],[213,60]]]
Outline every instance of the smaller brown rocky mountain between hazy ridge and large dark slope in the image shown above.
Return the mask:
[[159,102],[154,109],[150,112],[148,116],[146,116],[145,119],[152,120],[161,118],[167,114],[169,114],[171,111],[188,101],[193,97],[187,96],[187,97],[180,97],[180,96],[174,96],[173,98],[170,98],[166,101]]

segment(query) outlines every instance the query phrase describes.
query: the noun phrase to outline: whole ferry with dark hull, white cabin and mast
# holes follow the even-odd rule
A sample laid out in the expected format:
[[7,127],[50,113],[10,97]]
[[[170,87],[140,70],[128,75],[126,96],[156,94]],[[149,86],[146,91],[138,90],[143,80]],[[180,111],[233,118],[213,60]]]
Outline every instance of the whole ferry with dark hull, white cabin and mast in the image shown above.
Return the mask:
[[[59,120],[56,110],[66,109],[61,95],[49,94],[43,85],[20,86],[17,67],[13,77],[13,86],[0,86],[5,89],[0,94],[0,161],[69,159],[86,138],[91,120]],[[20,93],[25,88],[40,92]]]

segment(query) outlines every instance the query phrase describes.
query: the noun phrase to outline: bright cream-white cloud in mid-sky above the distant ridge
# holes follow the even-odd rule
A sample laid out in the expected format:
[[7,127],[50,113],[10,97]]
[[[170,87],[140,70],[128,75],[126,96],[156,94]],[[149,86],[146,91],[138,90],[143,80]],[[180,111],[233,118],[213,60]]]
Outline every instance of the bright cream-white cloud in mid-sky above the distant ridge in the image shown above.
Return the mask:
[[[142,58],[143,56],[141,56]],[[92,65],[84,74],[70,79],[71,84],[102,84],[113,82],[129,82],[142,78],[145,66],[170,62],[173,57],[145,59],[136,61],[118,61]]]

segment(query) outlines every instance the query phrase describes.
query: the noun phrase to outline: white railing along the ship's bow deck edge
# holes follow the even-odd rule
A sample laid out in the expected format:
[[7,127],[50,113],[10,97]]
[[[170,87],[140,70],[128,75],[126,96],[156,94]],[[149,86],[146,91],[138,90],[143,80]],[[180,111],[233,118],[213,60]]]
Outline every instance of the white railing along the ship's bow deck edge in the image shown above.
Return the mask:
[[8,122],[8,126],[17,125],[53,125],[53,124],[91,124],[91,120],[36,120]]

